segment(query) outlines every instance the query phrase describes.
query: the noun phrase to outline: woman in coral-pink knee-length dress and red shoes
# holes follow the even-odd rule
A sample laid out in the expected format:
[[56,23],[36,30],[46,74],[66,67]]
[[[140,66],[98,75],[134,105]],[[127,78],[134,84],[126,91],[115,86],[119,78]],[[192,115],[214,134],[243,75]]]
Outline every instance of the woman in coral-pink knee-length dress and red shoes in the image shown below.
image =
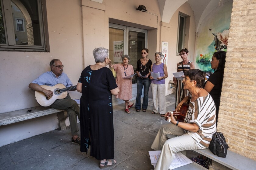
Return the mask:
[[116,95],[116,98],[122,99],[125,102],[126,113],[130,113],[129,109],[133,106],[133,102],[130,101],[132,98],[132,77],[124,78],[129,75],[133,75],[133,66],[128,64],[130,61],[129,55],[124,55],[122,57],[123,63],[111,64],[109,62],[109,66],[114,68],[116,71],[116,84],[119,87],[120,92]]

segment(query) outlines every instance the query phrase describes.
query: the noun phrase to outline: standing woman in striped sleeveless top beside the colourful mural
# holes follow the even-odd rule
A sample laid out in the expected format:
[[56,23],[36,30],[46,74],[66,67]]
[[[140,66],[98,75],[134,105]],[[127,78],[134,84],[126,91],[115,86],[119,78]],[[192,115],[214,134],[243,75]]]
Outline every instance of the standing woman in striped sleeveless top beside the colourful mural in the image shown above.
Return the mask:
[[[195,68],[194,63],[189,61],[187,56],[188,56],[187,48],[183,48],[182,50],[180,50],[180,57],[182,61],[177,64],[177,72],[183,71],[183,73],[185,73],[186,71]],[[189,95],[189,91],[183,88],[182,80],[177,80],[175,77],[173,77],[173,83],[176,84],[176,97],[175,97],[175,107],[176,107],[184,97]]]

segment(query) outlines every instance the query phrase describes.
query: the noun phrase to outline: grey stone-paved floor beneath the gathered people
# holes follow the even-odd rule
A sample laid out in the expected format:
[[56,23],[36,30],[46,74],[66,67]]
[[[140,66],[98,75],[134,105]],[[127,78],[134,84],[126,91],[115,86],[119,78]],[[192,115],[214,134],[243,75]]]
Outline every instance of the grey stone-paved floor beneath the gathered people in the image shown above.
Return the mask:
[[[174,105],[175,95],[167,95],[167,111],[174,110]],[[152,99],[149,99],[146,112],[136,112],[135,103],[130,114],[124,108],[124,103],[113,107],[117,163],[105,169],[153,169],[148,151],[152,151],[150,146],[161,124],[168,122],[159,114],[151,114]],[[53,130],[0,147],[0,170],[99,170],[99,161],[90,156],[90,149],[87,155],[80,152],[79,145],[71,142],[69,128]]]

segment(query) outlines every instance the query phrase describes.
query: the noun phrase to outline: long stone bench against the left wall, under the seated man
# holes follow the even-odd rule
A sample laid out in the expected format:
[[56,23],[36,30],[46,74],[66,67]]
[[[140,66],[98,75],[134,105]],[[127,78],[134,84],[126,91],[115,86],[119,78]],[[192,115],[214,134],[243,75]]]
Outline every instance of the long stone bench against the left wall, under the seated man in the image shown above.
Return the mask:
[[59,130],[66,129],[67,112],[60,109],[36,106],[27,109],[16,110],[12,112],[0,113],[0,126],[8,125],[23,120],[29,120],[40,116],[57,113]]

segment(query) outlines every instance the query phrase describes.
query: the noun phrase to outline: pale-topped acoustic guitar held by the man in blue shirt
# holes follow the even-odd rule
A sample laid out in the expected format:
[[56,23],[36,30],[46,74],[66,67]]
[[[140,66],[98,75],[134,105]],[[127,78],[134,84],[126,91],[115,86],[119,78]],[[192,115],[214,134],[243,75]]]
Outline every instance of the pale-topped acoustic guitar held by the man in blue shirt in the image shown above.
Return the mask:
[[45,107],[50,106],[57,99],[64,99],[65,97],[67,97],[67,91],[72,91],[76,89],[76,85],[66,87],[63,84],[56,84],[55,86],[41,85],[41,87],[47,90],[51,90],[53,92],[52,97],[49,98],[43,92],[35,91],[35,96],[38,104]]

